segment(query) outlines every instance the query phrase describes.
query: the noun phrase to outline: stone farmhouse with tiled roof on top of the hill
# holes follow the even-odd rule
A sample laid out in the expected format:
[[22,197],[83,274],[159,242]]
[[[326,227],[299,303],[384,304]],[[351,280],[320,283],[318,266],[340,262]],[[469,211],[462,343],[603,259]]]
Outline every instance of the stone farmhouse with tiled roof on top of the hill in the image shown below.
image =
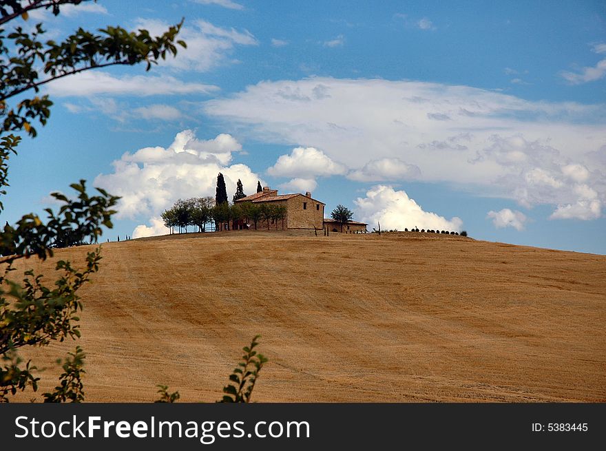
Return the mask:
[[[275,202],[275,204],[281,204],[286,207],[286,218],[284,218],[285,229],[316,229],[322,230],[325,227],[330,227],[329,231],[333,231],[334,227],[332,220],[324,219],[324,207],[326,204],[320,202],[311,197],[311,193],[307,191],[305,194],[293,193],[293,194],[278,194],[277,189],[271,189],[270,187],[264,187],[262,191],[251,194],[242,199],[236,200],[236,203],[252,202],[253,204],[261,204],[264,202]],[[354,230],[366,230],[366,224],[362,222],[354,222],[346,224],[343,227],[344,232],[352,233]],[[364,228],[362,229],[362,226]],[[244,221],[234,222],[232,229],[247,229],[249,224],[244,224]],[[347,228],[346,228],[347,227]],[[350,229],[349,227],[356,227],[356,229]],[[340,224],[337,227],[340,231]]]

